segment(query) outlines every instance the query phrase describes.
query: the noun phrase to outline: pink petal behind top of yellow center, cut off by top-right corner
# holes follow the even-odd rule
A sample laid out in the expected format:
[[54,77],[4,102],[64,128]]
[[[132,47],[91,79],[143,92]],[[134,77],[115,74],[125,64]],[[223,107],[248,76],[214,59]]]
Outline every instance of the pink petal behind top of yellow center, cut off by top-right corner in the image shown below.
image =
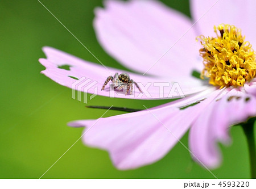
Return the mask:
[[256,1],[220,0],[216,2],[217,0],[191,0],[191,12],[194,22],[210,9],[196,24],[196,27],[200,30],[199,35],[215,36],[213,33],[214,25],[230,24],[241,28],[242,35],[246,36],[245,40],[255,47]]

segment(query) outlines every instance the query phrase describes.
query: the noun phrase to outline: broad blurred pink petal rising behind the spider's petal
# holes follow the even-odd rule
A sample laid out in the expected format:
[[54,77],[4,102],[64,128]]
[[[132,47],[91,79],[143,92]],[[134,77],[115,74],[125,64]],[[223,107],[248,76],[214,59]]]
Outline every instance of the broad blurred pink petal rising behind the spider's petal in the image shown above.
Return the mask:
[[157,1],[135,0],[106,1],[105,9],[95,12],[98,40],[106,52],[127,68],[146,72],[172,45],[148,74],[191,78],[192,70],[203,66],[197,59],[199,43],[195,41],[195,32],[188,31],[191,20],[180,12]]

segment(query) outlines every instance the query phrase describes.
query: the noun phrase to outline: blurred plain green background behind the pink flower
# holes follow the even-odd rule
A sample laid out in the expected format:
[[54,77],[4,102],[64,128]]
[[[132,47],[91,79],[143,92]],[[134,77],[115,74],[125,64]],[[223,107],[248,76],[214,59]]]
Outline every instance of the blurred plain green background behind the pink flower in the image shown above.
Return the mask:
[[[188,1],[162,1],[189,14]],[[93,10],[102,0],[42,3],[105,65],[123,69],[96,39]],[[85,108],[71,98],[71,89],[51,81],[40,71],[38,59],[45,45],[85,60],[97,62],[82,45],[36,0],[0,1],[1,131],[0,178],[40,178],[81,136],[82,128],[68,121],[97,119],[105,110]],[[96,96],[89,105],[154,107],[168,100],[109,99]],[[104,117],[123,114],[109,111]],[[221,146],[224,162],[213,170],[218,178],[249,178],[247,145],[240,127],[231,129],[233,144]],[[188,134],[181,141],[188,145]],[[42,178],[213,178],[191,161],[187,149],[177,144],[153,165],[118,171],[107,152],[78,141]]]

